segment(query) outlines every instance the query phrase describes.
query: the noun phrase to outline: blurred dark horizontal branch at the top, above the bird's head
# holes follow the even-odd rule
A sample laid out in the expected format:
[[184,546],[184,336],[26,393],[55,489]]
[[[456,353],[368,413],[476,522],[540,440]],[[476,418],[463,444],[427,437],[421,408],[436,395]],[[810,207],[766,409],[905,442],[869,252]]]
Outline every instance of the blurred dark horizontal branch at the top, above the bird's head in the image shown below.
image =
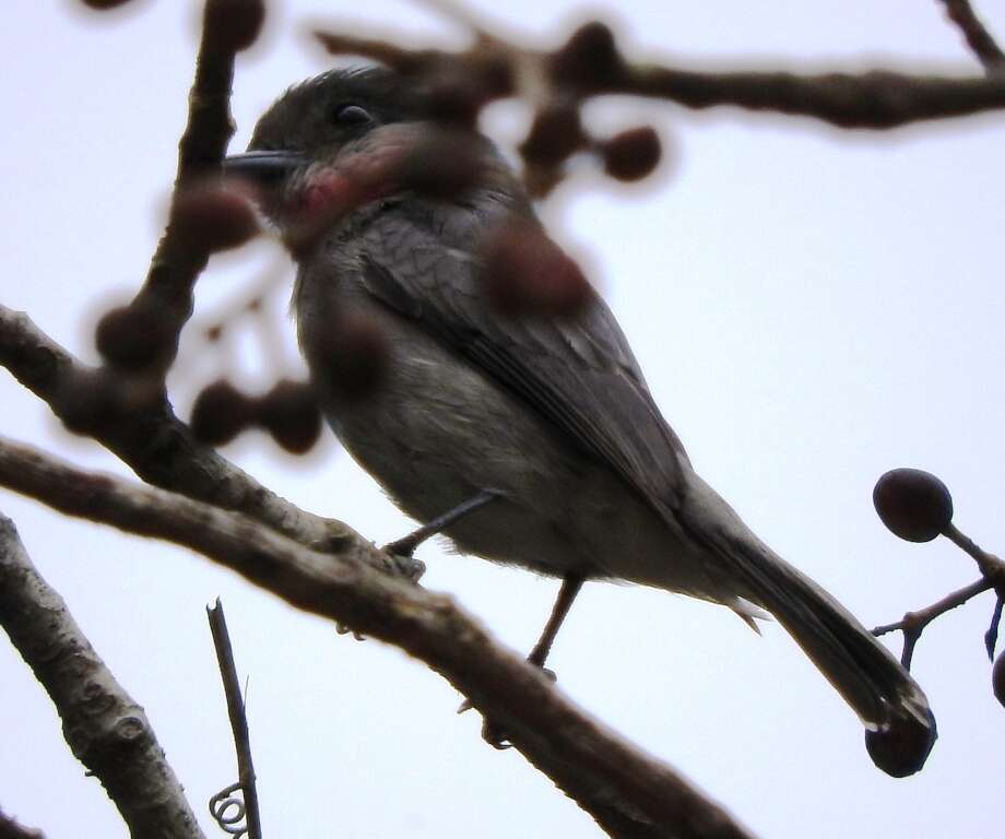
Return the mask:
[[[551,96],[578,99],[627,94],[665,99],[688,108],[732,105],[819,119],[838,128],[890,129],[932,119],[962,117],[1005,107],[1005,79],[943,78],[888,70],[862,73],[801,74],[784,71],[706,71],[627,61],[602,23],[589,23],[554,52],[509,47],[500,38],[478,39],[469,50],[413,50],[380,38],[358,38],[318,31],[315,36],[332,54],[357,55],[388,63],[401,72],[459,86],[503,70],[509,87],[496,84],[490,96],[551,91]],[[522,91],[516,87],[521,86]]]

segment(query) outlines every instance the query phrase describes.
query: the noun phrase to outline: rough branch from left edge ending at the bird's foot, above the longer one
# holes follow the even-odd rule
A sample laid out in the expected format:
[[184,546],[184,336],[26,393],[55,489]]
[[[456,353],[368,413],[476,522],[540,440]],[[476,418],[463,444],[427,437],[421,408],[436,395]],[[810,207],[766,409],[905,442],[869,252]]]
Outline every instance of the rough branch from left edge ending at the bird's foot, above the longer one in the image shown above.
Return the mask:
[[[88,434],[154,486],[236,510],[322,553],[343,551],[360,539],[346,524],[299,509],[200,446],[162,392],[138,398],[129,380],[85,367],[26,315],[2,305],[0,366],[64,423]],[[369,556],[404,576],[416,576],[421,568],[405,558]]]

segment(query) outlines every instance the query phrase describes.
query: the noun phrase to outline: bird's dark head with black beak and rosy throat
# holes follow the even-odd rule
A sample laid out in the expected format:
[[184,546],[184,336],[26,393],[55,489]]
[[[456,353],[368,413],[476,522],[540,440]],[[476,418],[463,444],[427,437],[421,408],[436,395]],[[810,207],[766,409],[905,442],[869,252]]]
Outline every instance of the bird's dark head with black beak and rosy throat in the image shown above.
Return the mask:
[[503,169],[484,137],[436,122],[422,84],[386,69],[331,70],[292,87],[248,151],[224,163],[265,191],[263,208],[284,228],[392,192],[449,199]]

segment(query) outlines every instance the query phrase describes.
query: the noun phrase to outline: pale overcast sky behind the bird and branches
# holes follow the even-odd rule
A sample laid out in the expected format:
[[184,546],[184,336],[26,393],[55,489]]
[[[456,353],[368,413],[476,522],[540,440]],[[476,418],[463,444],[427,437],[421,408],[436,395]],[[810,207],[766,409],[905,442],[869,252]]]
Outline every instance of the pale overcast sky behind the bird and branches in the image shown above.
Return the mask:
[[[141,282],[159,234],[196,4],[137,0],[104,16],[76,5],[4,10],[0,300],[93,358],[87,323]],[[572,2],[480,5],[544,45],[584,14]],[[979,5],[1005,37],[1005,10]],[[624,0],[618,9],[637,56],[980,72],[935,0]],[[324,14],[422,44],[462,38],[405,2],[287,0],[239,62],[235,149],[275,95],[328,66],[303,35],[307,20]],[[506,137],[518,137],[527,118],[513,107],[488,116]],[[1002,117],[883,135],[636,102],[591,107],[589,117],[606,131],[655,125],[666,161],[645,189],[584,167],[543,211],[604,289],[696,469],[866,625],[970,582],[972,563],[944,540],[910,545],[889,534],[871,493],[888,469],[929,469],[949,485],[965,532],[991,551],[1005,543]],[[259,243],[214,259],[199,311],[280,258]],[[279,295],[276,309],[286,300]],[[267,386],[263,368],[299,369],[292,324],[285,315],[277,322],[286,358],[263,362],[253,335],[235,345],[248,387]],[[182,414],[222,370],[218,356],[189,351],[173,382]],[[97,447],[69,439],[5,374],[0,388],[4,435],[127,474]],[[377,542],[410,528],[330,436],[306,462],[256,436],[224,453]],[[454,714],[460,698],[449,685],[394,649],[339,636],[180,548],[64,520],[7,493],[0,510],[145,707],[209,835],[216,828],[204,802],[236,778],[203,613],[218,594],[250,682],[267,836],[600,836],[519,754],[484,745],[476,714]],[[421,557],[426,586],[530,649],[556,581],[435,545]],[[985,594],[919,645],[914,673],[941,738],[924,771],[907,780],[873,767],[854,714],[777,625],[759,638],[721,607],[593,583],[551,663],[577,702],[759,836],[990,836],[1001,831],[1005,795],[1005,709],[992,696],[981,639],[991,607]],[[899,638],[889,642],[899,654]],[[50,839],[123,836],[7,643],[0,707],[0,806]]]

